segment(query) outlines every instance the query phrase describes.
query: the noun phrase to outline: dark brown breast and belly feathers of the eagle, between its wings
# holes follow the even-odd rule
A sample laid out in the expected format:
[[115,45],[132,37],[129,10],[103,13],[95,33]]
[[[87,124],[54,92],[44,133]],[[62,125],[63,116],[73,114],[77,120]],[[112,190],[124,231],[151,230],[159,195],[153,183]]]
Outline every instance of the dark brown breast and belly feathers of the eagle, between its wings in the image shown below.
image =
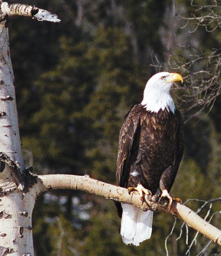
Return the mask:
[[[158,113],[141,109],[138,154],[130,162],[127,187],[137,186],[139,178],[144,187],[155,193],[163,171],[174,164],[177,147],[178,118],[167,109]],[[135,144],[134,144],[135,146]],[[135,146],[135,147],[136,147]],[[132,148],[132,152],[137,151]],[[140,177],[131,174],[140,173]],[[143,176],[143,177],[142,177]]]

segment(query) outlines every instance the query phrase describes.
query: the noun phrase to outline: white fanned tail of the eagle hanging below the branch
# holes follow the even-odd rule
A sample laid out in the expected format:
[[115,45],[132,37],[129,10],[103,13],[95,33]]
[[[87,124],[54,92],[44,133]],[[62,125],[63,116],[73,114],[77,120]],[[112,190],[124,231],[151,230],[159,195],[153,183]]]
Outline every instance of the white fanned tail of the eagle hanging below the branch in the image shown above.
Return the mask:
[[153,212],[142,211],[140,208],[121,204],[123,208],[121,220],[121,236],[125,244],[140,245],[149,239],[152,232]]

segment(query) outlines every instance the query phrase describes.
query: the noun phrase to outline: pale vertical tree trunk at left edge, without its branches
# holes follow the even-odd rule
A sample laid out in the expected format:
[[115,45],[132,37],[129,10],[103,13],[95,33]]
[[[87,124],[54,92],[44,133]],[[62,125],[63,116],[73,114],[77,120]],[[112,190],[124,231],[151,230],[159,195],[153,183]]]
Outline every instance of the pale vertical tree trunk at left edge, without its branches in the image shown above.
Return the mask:
[[[8,30],[0,26],[0,255],[34,255],[34,191],[23,193],[24,161],[18,129]],[[5,168],[4,168],[5,167]],[[13,191],[13,193],[12,193]]]

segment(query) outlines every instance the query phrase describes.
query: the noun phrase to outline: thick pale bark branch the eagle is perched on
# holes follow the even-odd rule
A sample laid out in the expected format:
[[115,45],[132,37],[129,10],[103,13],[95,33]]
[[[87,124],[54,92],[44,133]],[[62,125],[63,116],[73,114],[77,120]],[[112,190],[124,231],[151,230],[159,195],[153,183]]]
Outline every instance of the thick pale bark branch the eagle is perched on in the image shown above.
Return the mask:
[[[106,199],[116,200],[121,203],[133,204],[144,211],[152,210],[158,212],[167,212],[168,200],[162,200],[159,203],[151,202],[145,197],[143,204],[137,192],[129,195],[126,188],[117,187],[102,181],[94,180],[88,175],[76,176],[66,174],[51,174],[38,176],[38,188],[40,192],[50,189],[74,189],[80,190],[94,195],[103,196]],[[221,245],[221,230],[217,229],[204,219],[199,217],[190,208],[173,201],[169,214],[178,217],[186,222],[188,226],[193,227],[201,234]]]

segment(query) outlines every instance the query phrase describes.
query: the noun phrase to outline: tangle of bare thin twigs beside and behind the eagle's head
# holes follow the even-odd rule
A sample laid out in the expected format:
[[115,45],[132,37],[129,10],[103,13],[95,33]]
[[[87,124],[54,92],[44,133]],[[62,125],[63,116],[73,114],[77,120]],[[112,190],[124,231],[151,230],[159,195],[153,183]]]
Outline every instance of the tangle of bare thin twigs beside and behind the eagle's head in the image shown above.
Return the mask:
[[177,50],[182,55],[169,53],[167,63],[159,63],[157,58],[152,57],[152,66],[157,71],[168,70],[183,76],[184,85],[177,84],[174,91],[180,91],[178,107],[188,120],[204,109],[209,112],[221,94],[221,49],[201,53],[194,47],[178,46]]

